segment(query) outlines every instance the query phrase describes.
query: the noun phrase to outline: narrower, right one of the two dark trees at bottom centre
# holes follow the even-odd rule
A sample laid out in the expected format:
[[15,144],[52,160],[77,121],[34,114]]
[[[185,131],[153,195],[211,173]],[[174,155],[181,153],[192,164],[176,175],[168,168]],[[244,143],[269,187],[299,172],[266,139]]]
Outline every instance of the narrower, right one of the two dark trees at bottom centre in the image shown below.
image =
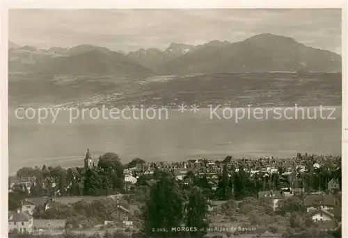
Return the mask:
[[189,232],[191,237],[203,237],[208,226],[205,216],[208,212],[207,200],[199,187],[193,187],[189,194],[189,203],[187,204],[187,227],[196,227],[197,230]]

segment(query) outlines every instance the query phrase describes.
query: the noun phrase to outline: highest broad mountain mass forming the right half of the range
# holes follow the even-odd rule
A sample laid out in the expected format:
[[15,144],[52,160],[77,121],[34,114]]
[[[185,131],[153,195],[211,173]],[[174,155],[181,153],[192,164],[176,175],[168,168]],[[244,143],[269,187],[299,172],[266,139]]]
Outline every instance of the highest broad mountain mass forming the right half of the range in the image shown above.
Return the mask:
[[232,44],[205,44],[165,62],[161,74],[262,71],[341,71],[341,56],[290,37],[260,34]]

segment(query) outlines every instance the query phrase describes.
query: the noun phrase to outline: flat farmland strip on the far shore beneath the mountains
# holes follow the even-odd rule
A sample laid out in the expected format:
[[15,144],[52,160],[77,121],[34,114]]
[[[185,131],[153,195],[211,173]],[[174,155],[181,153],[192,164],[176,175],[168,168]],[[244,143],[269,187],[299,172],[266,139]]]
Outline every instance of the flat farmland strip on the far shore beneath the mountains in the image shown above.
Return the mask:
[[14,106],[23,103],[81,106],[81,102],[90,102],[90,107],[175,106],[181,102],[198,103],[201,107],[210,104],[235,107],[294,106],[295,103],[301,106],[341,105],[342,75],[245,73],[136,79],[11,76],[9,96],[9,103]]

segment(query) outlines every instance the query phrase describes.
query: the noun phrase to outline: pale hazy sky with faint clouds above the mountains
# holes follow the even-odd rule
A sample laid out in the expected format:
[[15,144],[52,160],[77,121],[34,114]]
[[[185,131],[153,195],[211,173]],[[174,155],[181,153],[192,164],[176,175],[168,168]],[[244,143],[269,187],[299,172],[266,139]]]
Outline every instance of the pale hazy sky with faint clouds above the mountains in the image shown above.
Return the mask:
[[10,10],[9,37],[40,48],[95,44],[113,50],[165,49],[171,42],[237,42],[259,33],[340,53],[339,9]]

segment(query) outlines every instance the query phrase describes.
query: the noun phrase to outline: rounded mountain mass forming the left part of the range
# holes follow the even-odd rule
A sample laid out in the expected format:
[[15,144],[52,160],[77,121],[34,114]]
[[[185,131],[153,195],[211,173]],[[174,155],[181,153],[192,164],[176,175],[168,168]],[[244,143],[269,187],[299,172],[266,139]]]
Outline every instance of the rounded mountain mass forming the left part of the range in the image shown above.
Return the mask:
[[10,73],[81,76],[148,76],[150,69],[122,53],[87,44],[72,48],[37,49],[24,46],[8,51]]

